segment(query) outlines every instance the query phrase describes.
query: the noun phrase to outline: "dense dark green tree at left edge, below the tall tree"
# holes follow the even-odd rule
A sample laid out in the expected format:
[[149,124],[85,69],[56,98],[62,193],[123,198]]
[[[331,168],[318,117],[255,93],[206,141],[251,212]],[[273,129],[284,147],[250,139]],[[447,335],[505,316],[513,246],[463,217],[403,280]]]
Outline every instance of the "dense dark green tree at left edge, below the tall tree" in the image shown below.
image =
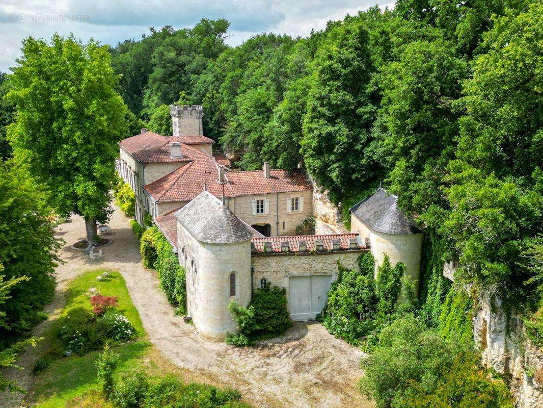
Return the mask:
[[[52,211],[26,169],[0,164],[0,263],[10,299],[0,304],[0,348],[28,332],[54,293],[55,252]],[[14,285],[13,282],[24,283]]]

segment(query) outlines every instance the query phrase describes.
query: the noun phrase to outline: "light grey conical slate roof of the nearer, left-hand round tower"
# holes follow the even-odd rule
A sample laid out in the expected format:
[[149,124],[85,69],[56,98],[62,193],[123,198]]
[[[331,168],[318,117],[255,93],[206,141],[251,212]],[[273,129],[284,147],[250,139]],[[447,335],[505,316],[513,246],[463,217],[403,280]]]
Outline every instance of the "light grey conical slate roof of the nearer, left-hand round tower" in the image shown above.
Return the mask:
[[255,233],[209,191],[202,191],[176,212],[175,217],[202,242],[232,244],[248,240]]

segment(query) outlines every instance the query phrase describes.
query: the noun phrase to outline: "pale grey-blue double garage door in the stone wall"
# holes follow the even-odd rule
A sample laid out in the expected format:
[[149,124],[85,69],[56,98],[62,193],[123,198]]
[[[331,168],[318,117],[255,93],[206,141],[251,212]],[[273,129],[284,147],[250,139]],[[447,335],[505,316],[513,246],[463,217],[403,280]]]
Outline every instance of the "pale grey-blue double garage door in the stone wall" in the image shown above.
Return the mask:
[[330,275],[294,276],[288,279],[288,311],[295,322],[312,320],[323,310],[332,284]]

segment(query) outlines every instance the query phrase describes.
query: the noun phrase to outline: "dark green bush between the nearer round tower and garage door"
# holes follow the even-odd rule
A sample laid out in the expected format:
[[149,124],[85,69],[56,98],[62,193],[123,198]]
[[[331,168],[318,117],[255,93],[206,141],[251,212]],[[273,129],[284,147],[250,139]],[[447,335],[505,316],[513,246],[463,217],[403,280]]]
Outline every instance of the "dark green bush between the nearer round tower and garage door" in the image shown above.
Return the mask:
[[282,335],[292,326],[286,289],[270,283],[255,290],[248,307],[232,301],[229,310],[238,324],[239,333],[229,333],[226,337],[228,344],[250,345],[260,339]]

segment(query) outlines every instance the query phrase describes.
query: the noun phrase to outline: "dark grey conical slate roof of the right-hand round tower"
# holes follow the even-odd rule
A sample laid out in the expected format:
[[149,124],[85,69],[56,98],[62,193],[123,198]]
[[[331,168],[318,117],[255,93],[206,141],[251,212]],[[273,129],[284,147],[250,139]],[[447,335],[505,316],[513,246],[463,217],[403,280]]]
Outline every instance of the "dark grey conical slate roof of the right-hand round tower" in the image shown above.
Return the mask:
[[398,197],[378,188],[350,208],[368,228],[386,234],[418,234],[421,231],[397,205]]

